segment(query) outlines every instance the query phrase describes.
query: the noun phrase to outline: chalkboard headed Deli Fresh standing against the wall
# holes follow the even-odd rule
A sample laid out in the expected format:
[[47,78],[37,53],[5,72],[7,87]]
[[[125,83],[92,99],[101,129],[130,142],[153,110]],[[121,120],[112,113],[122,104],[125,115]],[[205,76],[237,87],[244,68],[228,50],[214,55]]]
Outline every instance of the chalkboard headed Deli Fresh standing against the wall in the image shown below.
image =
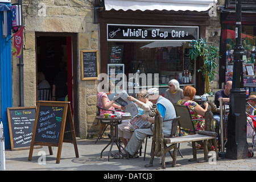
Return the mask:
[[8,107],[11,150],[22,150],[30,147],[34,129],[36,106]]

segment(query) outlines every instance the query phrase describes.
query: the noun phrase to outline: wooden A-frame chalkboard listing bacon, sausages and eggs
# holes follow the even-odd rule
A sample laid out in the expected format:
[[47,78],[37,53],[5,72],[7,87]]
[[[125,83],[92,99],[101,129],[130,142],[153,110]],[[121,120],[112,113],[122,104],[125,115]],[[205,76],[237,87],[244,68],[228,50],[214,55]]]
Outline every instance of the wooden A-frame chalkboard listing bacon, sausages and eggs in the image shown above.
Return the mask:
[[53,146],[58,147],[56,163],[59,164],[63,142],[73,143],[79,158],[70,102],[38,101],[28,160],[32,160],[34,145],[48,146],[50,155]]

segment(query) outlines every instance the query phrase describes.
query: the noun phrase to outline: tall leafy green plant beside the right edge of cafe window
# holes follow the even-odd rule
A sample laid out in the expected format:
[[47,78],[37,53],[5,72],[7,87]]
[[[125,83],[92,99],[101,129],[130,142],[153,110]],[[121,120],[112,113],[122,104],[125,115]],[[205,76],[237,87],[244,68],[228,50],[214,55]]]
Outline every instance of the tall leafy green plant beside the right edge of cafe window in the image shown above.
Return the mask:
[[193,40],[189,46],[189,57],[192,60],[201,58],[204,61],[204,65],[199,69],[202,71],[203,79],[205,81],[205,93],[210,93],[210,81],[213,80],[214,74],[217,73],[214,69],[217,68],[216,60],[221,56],[218,55],[218,47],[207,45],[206,39],[200,38]]

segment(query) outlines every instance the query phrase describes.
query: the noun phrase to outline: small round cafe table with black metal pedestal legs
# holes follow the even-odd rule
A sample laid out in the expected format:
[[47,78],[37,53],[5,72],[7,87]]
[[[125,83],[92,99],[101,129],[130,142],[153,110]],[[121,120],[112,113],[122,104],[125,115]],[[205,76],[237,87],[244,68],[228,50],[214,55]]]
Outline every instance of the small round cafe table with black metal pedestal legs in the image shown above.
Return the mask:
[[110,150],[109,150],[109,154],[108,154],[108,161],[109,161],[109,156],[111,154],[111,151],[112,151],[112,147],[113,147],[113,144],[117,144],[117,147],[118,147],[118,151],[120,152],[121,151],[121,148],[125,150],[125,148],[123,148],[123,146],[121,145],[121,143],[119,142],[119,139],[118,139],[118,123],[122,120],[125,120],[125,119],[131,119],[132,117],[129,116],[129,117],[121,117],[121,118],[117,118],[117,117],[114,117],[114,118],[105,118],[104,115],[98,115],[96,116],[96,119],[98,120],[101,120],[102,122],[106,122],[106,123],[109,123],[110,125],[110,142],[106,145],[105,148],[103,148],[103,150],[101,151],[101,158],[102,158],[102,152],[104,152],[104,150],[111,144],[110,146]]

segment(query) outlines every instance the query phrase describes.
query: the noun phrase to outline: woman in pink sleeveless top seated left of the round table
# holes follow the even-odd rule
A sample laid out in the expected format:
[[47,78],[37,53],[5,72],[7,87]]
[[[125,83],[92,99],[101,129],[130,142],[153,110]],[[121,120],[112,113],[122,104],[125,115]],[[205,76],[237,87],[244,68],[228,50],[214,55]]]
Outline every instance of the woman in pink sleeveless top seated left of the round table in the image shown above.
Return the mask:
[[[108,92],[98,92],[97,95],[97,105],[100,106],[101,108],[104,109],[109,109],[109,110],[115,110],[115,108],[117,109],[124,109],[121,106],[117,105],[114,103],[114,101],[110,101],[108,96],[113,92],[113,88],[114,88],[114,84],[112,82],[108,82],[106,84],[104,84],[104,90],[108,90]],[[108,110],[103,110],[100,109],[100,115],[104,115],[104,114],[112,114],[112,111],[108,111]],[[102,124],[100,123],[100,131],[99,134],[101,134],[102,130],[104,129],[104,127],[106,126],[106,124]]]

